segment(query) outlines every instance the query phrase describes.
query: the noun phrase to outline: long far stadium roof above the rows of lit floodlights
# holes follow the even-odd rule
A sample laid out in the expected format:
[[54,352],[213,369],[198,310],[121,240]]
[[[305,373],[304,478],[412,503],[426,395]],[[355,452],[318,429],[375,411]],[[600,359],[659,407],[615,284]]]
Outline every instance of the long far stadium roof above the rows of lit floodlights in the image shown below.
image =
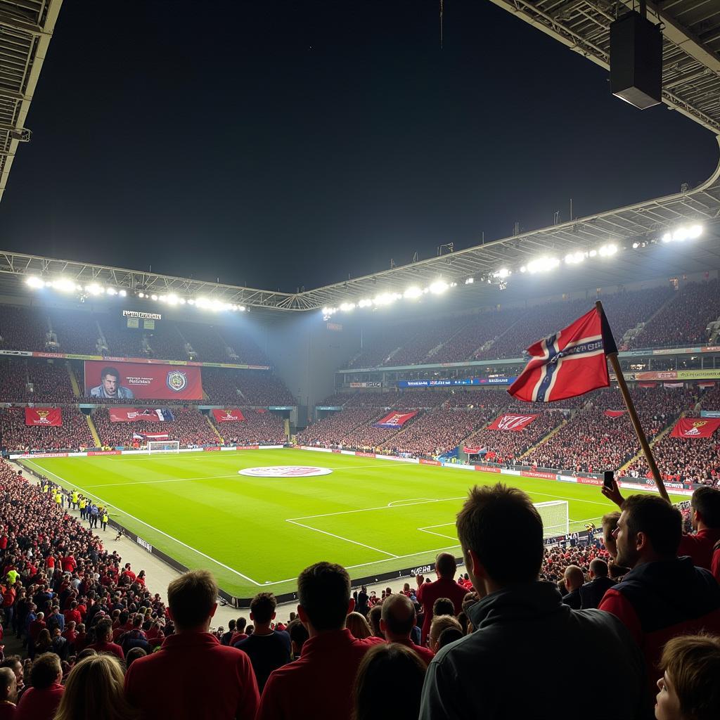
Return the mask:
[[[698,222],[705,228],[703,238],[678,245],[681,251],[668,254],[669,246],[657,243],[668,230]],[[565,292],[720,268],[720,165],[707,181],[694,189],[305,292],[272,292],[7,251],[0,251],[0,292],[17,294],[19,281],[36,275],[45,280],[69,278],[84,285],[106,284],[130,292],[174,293],[184,298],[202,296],[246,307],[317,310],[325,306],[339,307],[343,302],[359,302],[385,292],[402,293],[409,286],[428,285],[438,279],[457,284],[470,277],[484,281],[502,268],[517,271],[539,256],[563,258],[567,253],[589,251],[612,242],[625,245],[647,242],[649,246],[626,249],[611,261],[598,258],[574,267],[572,272],[563,274],[562,282],[553,280],[555,291],[558,284]],[[475,282],[468,292],[457,294],[467,299],[466,307],[477,307],[483,303],[483,292],[489,289],[485,282]],[[510,294],[514,293],[508,291],[508,300]]]

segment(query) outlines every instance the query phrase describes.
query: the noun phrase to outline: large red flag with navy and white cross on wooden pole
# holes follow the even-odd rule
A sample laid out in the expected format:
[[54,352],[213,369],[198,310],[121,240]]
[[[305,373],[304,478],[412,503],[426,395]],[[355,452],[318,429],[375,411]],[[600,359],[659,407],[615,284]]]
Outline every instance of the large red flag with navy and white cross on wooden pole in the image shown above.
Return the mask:
[[605,314],[593,307],[572,325],[531,345],[531,360],[508,392],[526,402],[553,402],[610,387],[606,356],[617,351]]

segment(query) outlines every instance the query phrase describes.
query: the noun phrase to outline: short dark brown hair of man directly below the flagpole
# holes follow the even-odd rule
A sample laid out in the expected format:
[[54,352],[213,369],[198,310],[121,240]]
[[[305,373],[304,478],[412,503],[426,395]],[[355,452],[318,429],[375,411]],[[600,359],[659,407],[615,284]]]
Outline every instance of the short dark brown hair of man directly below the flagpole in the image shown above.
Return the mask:
[[683,518],[678,508],[659,495],[629,495],[622,510],[629,534],[647,535],[654,552],[662,557],[677,554],[683,537]]

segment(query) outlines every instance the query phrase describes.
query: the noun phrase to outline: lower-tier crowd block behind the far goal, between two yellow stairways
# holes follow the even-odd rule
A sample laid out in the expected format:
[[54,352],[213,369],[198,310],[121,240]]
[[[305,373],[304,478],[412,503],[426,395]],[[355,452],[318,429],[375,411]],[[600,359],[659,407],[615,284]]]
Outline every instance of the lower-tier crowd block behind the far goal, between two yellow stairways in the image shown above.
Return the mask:
[[[168,440],[178,440],[181,446],[217,445],[217,435],[207,424],[207,418],[196,408],[172,408],[173,420],[153,423],[138,420],[134,423],[112,423],[106,408],[97,408],[93,421],[103,446],[132,447],[134,433],[168,433]],[[164,439],[164,438],[163,438]]]

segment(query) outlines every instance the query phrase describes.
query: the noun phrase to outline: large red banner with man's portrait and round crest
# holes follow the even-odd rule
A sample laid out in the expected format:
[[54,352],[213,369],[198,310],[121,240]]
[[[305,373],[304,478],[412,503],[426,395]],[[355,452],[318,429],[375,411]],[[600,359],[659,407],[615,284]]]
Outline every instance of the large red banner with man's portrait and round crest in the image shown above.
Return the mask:
[[202,400],[199,367],[85,361],[86,397],[132,400]]

